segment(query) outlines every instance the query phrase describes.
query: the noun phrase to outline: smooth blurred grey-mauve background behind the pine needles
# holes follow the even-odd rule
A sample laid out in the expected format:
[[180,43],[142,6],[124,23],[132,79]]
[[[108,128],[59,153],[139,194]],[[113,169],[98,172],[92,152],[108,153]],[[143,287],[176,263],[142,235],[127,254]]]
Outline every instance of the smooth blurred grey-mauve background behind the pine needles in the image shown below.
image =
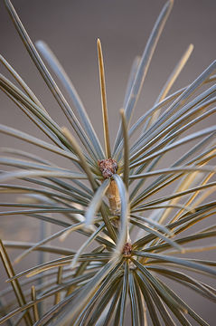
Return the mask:
[[[100,38],[105,59],[109,121],[113,141],[118,124],[118,110],[123,104],[131,63],[137,54],[143,52],[164,1],[14,0],[13,4],[33,42],[37,40],[47,42],[57,55],[79,92],[95,129],[99,135],[102,135],[96,48],[97,38]],[[192,57],[175,82],[173,91],[193,82],[215,59],[215,13],[215,0],[175,0],[174,9],[157,45],[144,90],[137,103],[134,119],[154,103],[175,63],[190,43],[194,44]],[[65,125],[66,119],[63,113],[53,101],[50,91],[47,90],[39,72],[33,66],[2,0],[0,1],[0,44],[1,54],[33,89],[52,118],[57,120],[59,125]],[[3,67],[1,72],[8,75]],[[0,93],[0,122],[45,139],[2,92]],[[211,118],[211,121],[205,121],[203,126],[212,125],[212,122],[215,123]],[[59,160],[56,161],[59,158],[53,158],[49,153],[1,134],[0,146],[19,147],[36,152],[44,158],[53,159],[55,163],[61,164]],[[5,200],[7,197],[2,195],[1,201]],[[37,221],[26,220],[22,216],[10,218],[2,216],[0,219],[0,237],[4,240],[35,241],[38,238],[38,228]],[[74,244],[78,247],[80,240],[75,239]],[[14,257],[17,253],[10,251],[10,254]],[[36,256],[31,259],[34,260],[34,257],[36,259]],[[211,257],[213,257],[212,253]],[[33,263],[34,261],[31,264]],[[27,265],[30,262],[28,260],[23,264]],[[16,266],[15,270],[22,270],[23,264]],[[5,287],[6,277],[1,264],[0,274],[1,289]],[[186,296],[187,302],[190,302],[210,325],[215,324],[215,306],[211,302],[202,300],[198,296],[193,297],[193,292],[187,292],[185,289],[179,289],[179,292],[183,297]]]

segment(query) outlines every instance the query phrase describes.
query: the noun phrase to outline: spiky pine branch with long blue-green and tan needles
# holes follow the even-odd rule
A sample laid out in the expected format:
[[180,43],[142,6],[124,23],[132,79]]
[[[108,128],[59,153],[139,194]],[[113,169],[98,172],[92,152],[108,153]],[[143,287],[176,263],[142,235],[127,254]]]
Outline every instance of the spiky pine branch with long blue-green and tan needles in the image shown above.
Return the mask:
[[[134,326],[147,325],[147,319],[154,326],[173,326],[176,321],[182,325],[192,325],[190,321],[208,325],[165,280],[216,301],[216,289],[194,276],[204,273],[215,277],[216,262],[186,255],[216,248],[210,244],[215,239],[215,225],[199,228],[199,223],[216,210],[215,200],[209,199],[216,188],[216,169],[211,165],[216,151],[216,127],[188,132],[215,113],[216,62],[194,82],[170,93],[193,51],[193,45],[189,45],[154,106],[132,124],[149,63],[173,6],[173,1],[168,1],[144,53],[132,65],[124,106],[119,112],[116,141],[111,144],[105,69],[98,40],[104,129],[101,142],[103,138],[97,136],[77,91],[51,49],[42,41],[34,46],[9,0],[5,0],[5,6],[70,128],[62,128],[52,120],[50,110],[43,107],[22,77],[0,56],[17,82],[14,84],[1,74],[2,91],[44,132],[48,141],[5,125],[0,125],[0,132],[68,158],[73,168],[58,167],[19,149],[2,152],[0,164],[6,168],[1,170],[0,192],[19,197],[14,203],[1,203],[6,209],[0,216],[29,216],[41,220],[43,227],[60,225],[61,230],[37,243],[0,241],[8,275],[8,288],[0,292],[0,324],[124,325],[130,306]],[[72,107],[40,55],[68,91]],[[134,134],[138,137],[133,142]],[[193,146],[183,156],[174,158],[167,168],[158,167],[161,158],[172,156],[184,144]],[[22,183],[16,183],[16,179]],[[172,193],[162,195],[161,190],[170,185],[175,187]],[[53,239],[63,241],[74,232],[85,236],[79,250],[49,245]],[[207,240],[204,245],[202,240]],[[14,264],[33,251],[52,253],[56,258],[15,273],[7,254],[10,248],[22,249]],[[13,292],[10,300],[5,301],[5,295]],[[42,310],[44,302],[49,302],[46,312]]]

